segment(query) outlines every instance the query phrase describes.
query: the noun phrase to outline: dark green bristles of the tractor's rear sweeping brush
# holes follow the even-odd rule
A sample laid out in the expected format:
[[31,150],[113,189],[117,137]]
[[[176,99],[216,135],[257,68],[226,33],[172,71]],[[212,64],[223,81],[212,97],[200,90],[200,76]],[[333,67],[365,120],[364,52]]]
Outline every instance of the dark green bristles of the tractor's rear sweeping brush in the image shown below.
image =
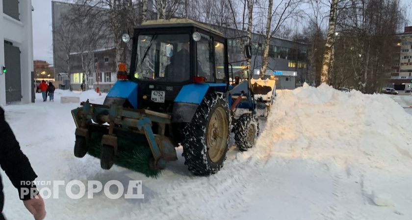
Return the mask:
[[[103,134],[97,132],[92,133],[88,154],[100,158],[102,135]],[[144,146],[142,143],[147,144],[144,136],[132,138],[118,136],[118,155],[114,163],[118,166],[142,173],[145,176],[156,178],[159,176],[160,171],[152,170],[149,167],[149,159],[152,152],[149,146]]]

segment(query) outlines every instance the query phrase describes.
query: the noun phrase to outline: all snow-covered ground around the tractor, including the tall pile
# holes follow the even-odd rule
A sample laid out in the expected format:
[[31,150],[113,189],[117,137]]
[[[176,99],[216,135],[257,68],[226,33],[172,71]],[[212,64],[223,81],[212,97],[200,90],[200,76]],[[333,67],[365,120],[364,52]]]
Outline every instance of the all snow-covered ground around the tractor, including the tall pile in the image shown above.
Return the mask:
[[[410,96],[341,92],[326,85],[278,91],[256,146],[232,146],[223,169],[192,176],[179,160],[157,179],[98,159],[73,155],[75,125],[60,96],[102,103],[93,91],[56,90],[55,102],[5,107],[6,118],[39,176],[37,180],[143,181],[144,199],[46,199],[46,219],[302,219],[377,220],[412,216]],[[399,104],[397,104],[396,102]],[[4,213],[31,219],[1,172]]]

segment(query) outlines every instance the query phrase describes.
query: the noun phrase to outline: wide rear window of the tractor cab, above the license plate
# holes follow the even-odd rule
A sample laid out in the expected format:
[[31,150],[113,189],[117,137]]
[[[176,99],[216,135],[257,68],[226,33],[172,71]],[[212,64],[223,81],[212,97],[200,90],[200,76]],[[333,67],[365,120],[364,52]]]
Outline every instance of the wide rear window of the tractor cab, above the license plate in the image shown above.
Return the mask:
[[188,34],[139,35],[134,78],[161,82],[190,79]]

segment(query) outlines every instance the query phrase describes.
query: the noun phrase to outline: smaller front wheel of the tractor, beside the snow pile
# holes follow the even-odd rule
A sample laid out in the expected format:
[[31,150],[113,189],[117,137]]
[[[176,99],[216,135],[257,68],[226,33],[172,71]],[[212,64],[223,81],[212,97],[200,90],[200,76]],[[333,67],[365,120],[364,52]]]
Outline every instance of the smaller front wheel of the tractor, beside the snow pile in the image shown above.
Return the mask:
[[246,113],[240,115],[234,126],[234,141],[240,151],[247,151],[255,145],[259,135],[259,121],[256,115]]

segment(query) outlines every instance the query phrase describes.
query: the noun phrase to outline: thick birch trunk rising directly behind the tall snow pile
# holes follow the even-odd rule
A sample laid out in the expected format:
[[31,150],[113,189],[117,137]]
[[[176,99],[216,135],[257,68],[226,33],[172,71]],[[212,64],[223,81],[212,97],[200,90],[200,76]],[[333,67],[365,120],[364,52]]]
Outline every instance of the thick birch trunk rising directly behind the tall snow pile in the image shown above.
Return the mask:
[[333,46],[335,44],[335,27],[336,27],[336,14],[337,14],[337,1],[332,0],[331,11],[329,14],[329,28],[328,36],[325,44],[325,54],[323,55],[322,69],[320,72],[321,83],[329,83],[329,67],[332,58]]

